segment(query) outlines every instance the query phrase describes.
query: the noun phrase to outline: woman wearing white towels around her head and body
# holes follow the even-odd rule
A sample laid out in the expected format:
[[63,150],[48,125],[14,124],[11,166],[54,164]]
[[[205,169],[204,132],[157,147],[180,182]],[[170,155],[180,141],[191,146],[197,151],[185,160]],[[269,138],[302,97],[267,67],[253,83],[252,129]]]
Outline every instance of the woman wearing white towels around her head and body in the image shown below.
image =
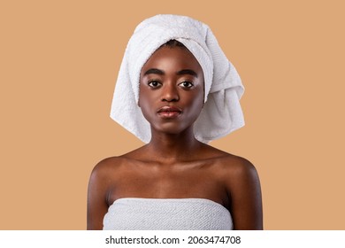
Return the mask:
[[255,167],[207,144],[243,126],[242,92],[209,27],[176,15],[142,21],[111,118],[147,144],[96,165],[88,229],[263,229]]

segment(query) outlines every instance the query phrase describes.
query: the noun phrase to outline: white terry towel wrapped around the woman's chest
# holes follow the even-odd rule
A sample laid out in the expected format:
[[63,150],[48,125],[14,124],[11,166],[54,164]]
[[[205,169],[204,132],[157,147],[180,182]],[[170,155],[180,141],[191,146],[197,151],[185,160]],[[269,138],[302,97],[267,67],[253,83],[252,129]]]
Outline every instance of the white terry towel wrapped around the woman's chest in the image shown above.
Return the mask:
[[203,198],[120,198],[103,218],[104,230],[230,230],[231,214]]

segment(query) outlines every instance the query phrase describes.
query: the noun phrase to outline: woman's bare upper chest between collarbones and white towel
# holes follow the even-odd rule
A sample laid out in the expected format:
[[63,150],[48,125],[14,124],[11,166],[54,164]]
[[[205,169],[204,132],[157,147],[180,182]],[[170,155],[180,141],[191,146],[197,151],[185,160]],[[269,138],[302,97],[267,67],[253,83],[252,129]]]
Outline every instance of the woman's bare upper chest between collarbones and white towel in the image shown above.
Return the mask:
[[109,202],[119,198],[207,198],[228,205],[224,182],[206,164],[134,167],[119,174],[109,189]]

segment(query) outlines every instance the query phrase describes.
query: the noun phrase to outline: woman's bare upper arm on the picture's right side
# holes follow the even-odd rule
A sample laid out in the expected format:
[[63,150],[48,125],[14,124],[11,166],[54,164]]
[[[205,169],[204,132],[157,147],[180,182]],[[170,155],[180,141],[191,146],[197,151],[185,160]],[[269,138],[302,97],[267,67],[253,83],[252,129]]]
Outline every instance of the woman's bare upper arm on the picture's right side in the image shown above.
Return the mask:
[[261,187],[256,168],[248,160],[239,158],[230,174],[227,189],[234,229],[263,229]]

